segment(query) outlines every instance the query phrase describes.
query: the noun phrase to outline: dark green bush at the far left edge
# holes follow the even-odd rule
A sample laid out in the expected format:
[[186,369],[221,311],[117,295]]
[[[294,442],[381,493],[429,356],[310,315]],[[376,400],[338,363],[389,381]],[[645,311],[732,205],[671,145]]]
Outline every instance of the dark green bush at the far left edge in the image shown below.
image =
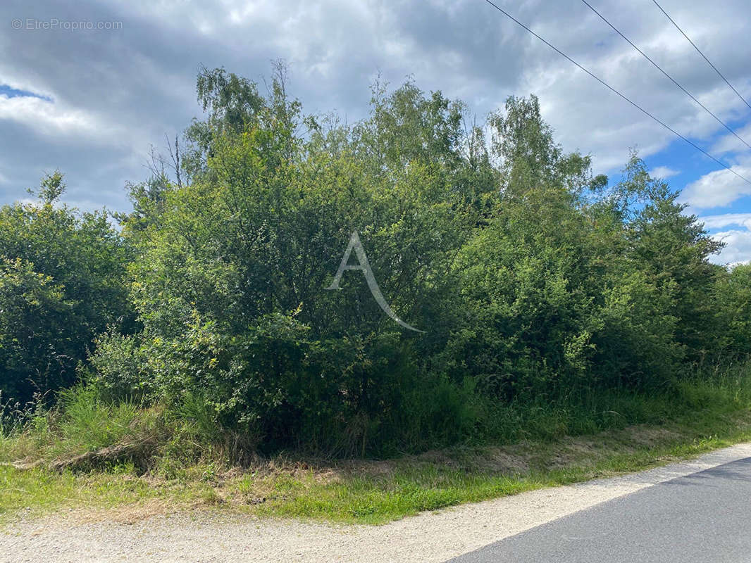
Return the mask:
[[53,173],[38,203],[0,208],[0,392],[26,402],[68,387],[107,324],[132,324],[124,243],[103,212],[59,204]]

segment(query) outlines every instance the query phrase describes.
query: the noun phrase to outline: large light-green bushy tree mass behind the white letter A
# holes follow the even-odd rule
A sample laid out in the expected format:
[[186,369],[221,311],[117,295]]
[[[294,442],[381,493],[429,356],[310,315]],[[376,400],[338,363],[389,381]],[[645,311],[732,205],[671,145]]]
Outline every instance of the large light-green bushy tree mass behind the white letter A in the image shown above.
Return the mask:
[[[128,236],[139,221],[131,299],[143,333],[101,342],[95,382],[110,396],[201,397],[218,423],[267,447],[362,452],[382,447],[414,410],[408,400],[456,387],[418,358],[448,336],[450,263],[477,221],[478,190],[493,184],[470,189],[461,108],[438,93],[376,89],[369,119],[320,125],[300,116],[282,79],[259,101],[237,77],[201,75],[210,115],[189,134],[208,132],[202,172],[158,192],[158,217],[126,220]],[[394,310],[438,329],[427,339],[399,333],[360,272],[323,291],[352,230]],[[401,440],[388,447],[412,447]]]

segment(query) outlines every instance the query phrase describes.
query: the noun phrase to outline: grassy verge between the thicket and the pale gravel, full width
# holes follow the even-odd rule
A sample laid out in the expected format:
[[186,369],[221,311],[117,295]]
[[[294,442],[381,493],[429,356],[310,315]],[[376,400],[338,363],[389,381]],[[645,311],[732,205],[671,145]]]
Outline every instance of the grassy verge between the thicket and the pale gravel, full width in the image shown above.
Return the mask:
[[[170,426],[158,409],[101,405],[80,392],[68,398],[62,416],[38,416],[23,429],[5,430],[0,439],[0,460],[5,462],[0,465],[0,522],[71,509],[95,517],[138,517],[211,507],[379,524],[422,510],[637,471],[751,441],[751,376],[745,367],[722,377],[686,381],[678,396],[609,400],[632,413],[632,420],[618,412],[600,416],[602,400],[594,410],[593,402],[557,405],[538,414],[535,408],[518,407],[524,430],[517,429],[513,443],[465,445],[382,461],[276,456],[239,468],[228,462],[226,443],[202,443],[195,425]],[[601,427],[578,435],[562,432],[592,427],[581,422],[589,420],[582,404],[598,415],[590,419],[601,421]],[[629,423],[640,417],[647,422]],[[503,414],[503,420],[512,418]],[[159,435],[169,439],[159,441]],[[150,444],[146,465],[129,444]],[[87,465],[87,452],[102,448],[127,455]],[[47,463],[27,463],[25,468],[8,463],[40,456]],[[55,466],[55,459],[84,463]]]

